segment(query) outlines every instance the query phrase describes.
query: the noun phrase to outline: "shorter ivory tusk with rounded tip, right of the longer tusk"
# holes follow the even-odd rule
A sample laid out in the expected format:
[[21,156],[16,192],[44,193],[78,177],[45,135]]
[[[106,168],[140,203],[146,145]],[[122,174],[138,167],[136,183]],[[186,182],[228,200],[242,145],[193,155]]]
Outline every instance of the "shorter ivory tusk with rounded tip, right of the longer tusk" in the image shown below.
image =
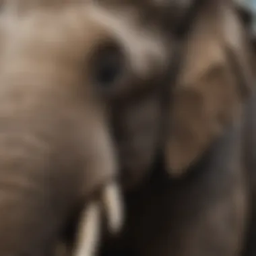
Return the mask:
[[110,183],[103,189],[102,204],[109,232],[119,232],[123,226],[124,210],[121,189],[117,183]]

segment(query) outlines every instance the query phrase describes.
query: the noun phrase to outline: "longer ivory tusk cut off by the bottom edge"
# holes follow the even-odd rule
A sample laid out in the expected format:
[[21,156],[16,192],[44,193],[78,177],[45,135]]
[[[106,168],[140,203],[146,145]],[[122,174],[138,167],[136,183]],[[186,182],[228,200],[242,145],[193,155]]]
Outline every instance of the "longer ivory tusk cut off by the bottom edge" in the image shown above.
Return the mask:
[[95,255],[100,240],[100,205],[92,202],[82,212],[73,256]]

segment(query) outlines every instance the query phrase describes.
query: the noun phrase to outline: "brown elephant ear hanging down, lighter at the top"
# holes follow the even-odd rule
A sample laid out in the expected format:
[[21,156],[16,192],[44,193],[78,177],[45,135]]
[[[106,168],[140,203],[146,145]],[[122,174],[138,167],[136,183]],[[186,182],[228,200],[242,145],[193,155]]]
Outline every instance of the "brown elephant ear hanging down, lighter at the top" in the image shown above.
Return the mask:
[[253,83],[252,51],[228,1],[206,1],[185,43],[171,89],[166,168],[183,174],[232,123]]

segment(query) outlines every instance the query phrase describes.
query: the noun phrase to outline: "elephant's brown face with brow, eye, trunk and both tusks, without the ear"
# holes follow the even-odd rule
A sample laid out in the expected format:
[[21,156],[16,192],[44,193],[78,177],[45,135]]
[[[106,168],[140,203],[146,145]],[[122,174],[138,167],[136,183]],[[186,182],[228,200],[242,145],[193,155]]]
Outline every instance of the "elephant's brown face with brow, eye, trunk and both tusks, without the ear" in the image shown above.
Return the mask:
[[129,19],[87,1],[1,5],[1,255],[51,255],[73,215],[75,255],[90,255],[102,207],[110,232],[119,230],[110,113],[150,88],[168,49]]

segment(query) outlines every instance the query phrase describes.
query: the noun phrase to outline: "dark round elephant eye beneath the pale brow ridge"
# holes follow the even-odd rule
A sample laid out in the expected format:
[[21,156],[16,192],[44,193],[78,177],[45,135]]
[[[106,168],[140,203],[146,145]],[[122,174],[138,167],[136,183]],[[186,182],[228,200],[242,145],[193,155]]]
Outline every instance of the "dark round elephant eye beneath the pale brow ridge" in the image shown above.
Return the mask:
[[120,47],[115,44],[99,46],[92,62],[93,82],[108,90],[116,86],[123,76],[125,57]]

